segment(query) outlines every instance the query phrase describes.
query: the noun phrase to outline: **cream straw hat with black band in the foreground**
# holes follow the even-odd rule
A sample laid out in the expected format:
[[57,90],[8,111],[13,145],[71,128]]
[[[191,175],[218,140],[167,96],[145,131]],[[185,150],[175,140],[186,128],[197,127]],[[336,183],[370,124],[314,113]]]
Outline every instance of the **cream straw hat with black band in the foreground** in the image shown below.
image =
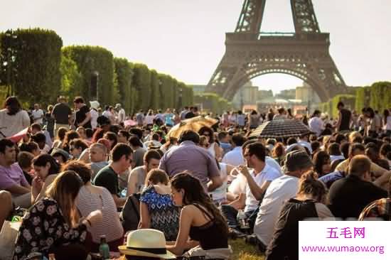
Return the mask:
[[176,259],[175,254],[166,250],[166,239],[163,232],[156,229],[137,229],[129,232],[127,245],[119,246],[118,249],[127,256]]

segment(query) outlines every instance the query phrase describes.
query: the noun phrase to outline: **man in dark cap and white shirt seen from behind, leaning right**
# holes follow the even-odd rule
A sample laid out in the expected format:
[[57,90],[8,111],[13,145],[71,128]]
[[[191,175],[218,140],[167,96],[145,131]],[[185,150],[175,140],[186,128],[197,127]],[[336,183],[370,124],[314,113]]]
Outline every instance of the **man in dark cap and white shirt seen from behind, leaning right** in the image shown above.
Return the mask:
[[285,167],[287,172],[273,180],[259,206],[254,233],[257,235],[259,242],[262,243],[260,249],[266,249],[272,240],[274,225],[278,220],[284,202],[291,197],[295,197],[299,188],[299,178],[311,170],[313,164],[305,151],[292,151],[286,154]]

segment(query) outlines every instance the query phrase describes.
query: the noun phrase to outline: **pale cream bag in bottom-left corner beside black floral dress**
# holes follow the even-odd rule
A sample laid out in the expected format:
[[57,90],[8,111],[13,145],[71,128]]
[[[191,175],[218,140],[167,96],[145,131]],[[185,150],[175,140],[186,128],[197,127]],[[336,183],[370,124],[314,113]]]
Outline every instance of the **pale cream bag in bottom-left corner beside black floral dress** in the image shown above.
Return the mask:
[[22,222],[4,221],[0,231],[0,260],[11,260],[14,256],[16,238]]

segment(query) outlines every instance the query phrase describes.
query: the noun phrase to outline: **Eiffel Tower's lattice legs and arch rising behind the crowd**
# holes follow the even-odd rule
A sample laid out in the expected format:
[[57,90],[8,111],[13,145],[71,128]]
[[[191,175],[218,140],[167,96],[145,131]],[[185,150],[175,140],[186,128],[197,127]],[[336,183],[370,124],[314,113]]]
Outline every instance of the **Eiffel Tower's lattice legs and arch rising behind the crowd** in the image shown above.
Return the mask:
[[225,34],[225,54],[206,92],[232,100],[246,82],[259,75],[284,73],[308,83],[326,102],[346,92],[346,84],[321,33],[311,0],[291,0],[294,33],[261,33],[266,0],[245,0],[234,33]]

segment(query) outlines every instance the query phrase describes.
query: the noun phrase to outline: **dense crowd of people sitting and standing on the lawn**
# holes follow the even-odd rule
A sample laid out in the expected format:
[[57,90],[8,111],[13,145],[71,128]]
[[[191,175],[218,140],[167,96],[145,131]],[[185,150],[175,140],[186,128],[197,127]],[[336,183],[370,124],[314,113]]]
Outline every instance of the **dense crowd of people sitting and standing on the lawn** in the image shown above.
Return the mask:
[[[391,220],[390,110],[209,114],[217,124],[177,139],[168,132],[197,107],[127,117],[121,104],[73,104],[27,112],[8,97],[0,110],[0,225],[26,209],[15,260],[86,259],[102,236],[127,259],[230,259],[240,237],[268,260],[298,259],[300,220]],[[311,132],[251,137],[282,119]]]

